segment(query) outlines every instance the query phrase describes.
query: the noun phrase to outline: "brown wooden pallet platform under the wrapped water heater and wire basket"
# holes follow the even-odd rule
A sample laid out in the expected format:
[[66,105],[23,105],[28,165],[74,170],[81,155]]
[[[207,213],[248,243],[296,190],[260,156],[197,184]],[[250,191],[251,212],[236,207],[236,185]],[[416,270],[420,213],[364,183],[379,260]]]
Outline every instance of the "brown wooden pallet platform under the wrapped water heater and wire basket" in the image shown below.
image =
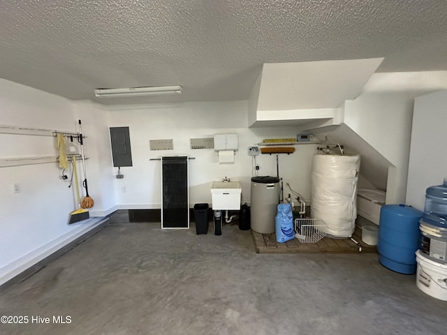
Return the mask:
[[[324,237],[316,243],[301,243],[292,239],[286,243],[278,243],[276,234],[260,234],[251,231],[256,253],[359,253],[359,247],[351,239],[330,239]],[[356,227],[353,239],[362,246],[361,253],[377,253],[376,246],[368,246],[362,242],[360,228]]]

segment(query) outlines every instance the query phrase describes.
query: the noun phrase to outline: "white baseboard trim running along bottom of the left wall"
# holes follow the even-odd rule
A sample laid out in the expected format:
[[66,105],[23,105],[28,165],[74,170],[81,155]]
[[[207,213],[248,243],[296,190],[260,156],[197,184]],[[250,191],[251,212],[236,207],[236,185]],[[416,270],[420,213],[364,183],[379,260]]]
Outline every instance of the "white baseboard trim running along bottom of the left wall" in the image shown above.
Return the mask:
[[[38,271],[41,271],[41,269],[43,269],[48,264],[50,264],[50,262],[57,260],[57,258],[61,257],[61,255],[64,255],[64,253],[71,251],[71,249],[75,248],[75,246],[78,246],[83,241],[87,240],[89,237],[91,237],[94,234],[96,234],[97,232],[99,232],[101,229],[103,229],[109,223],[110,223],[110,218],[108,218],[108,217],[103,218],[101,221],[96,223],[96,225],[94,225],[93,228],[89,229],[87,232],[84,232],[83,234],[81,232],[81,235],[79,237],[76,237],[72,241],[69,241],[67,244],[64,244],[60,248],[53,247],[53,248],[57,248],[57,250],[50,253],[50,255],[47,255],[42,260],[39,260],[38,262],[36,262],[34,264],[31,263],[32,264],[31,266],[29,266],[29,263],[32,262],[32,260],[28,261],[24,265],[17,267],[17,269],[15,269],[15,271],[10,271],[8,274],[3,276],[3,279],[6,278],[8,275],[10,277],[12,276],[12,278],[6,278],[6,281],[4,281],[3,283],[0,282],[0,290],[2,290],[4,288],[8,288],[10,286],[13,286],[17,283],[22,283],[23,281],[27,280],[27,278],[33,276]],[[63,243],[65,243],[65,241],[61,242],[61,244],[63,244]],[[58,246],[59,245],[60,244],[58,244]],[[51,248],[51,249],[53,249],[53,248]],[[45,253],[41,253],[41,255],[42,254],[45,255]],[[39,257],[40,256],[37,255],[35,258],[39,258]],[[20,269],[22,269],[23,267],[25,267],[25,269],[23,271],[20,271]],[[20,272],[18,274],[14,275],[13,273],[17,272],[17,271],[20,271]],[[0,280],[1,280],[1,278],[0,278]]]

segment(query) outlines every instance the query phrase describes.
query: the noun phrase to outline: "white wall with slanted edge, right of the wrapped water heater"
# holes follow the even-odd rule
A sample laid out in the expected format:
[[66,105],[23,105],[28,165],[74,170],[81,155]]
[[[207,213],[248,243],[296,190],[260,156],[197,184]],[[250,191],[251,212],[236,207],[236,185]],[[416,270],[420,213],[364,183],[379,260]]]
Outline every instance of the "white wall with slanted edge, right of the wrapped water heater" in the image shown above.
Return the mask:
[[443,88],[446,71],[374,73],[362,94],[345,103],[344,123],[393,165],[387,203],[405,202],[414,98]]

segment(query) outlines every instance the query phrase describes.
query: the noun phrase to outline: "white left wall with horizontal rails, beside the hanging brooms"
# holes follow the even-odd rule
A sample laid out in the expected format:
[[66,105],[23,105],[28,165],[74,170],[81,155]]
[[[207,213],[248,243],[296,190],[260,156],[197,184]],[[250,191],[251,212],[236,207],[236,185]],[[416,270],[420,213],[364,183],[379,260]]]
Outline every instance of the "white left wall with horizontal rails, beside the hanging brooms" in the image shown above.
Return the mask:
[[[0,111],[2,125],[77,131],[71,101],[7,80],[0,80]],[[0,134],[0,143],[0,158],[58,156],[56,137]],[[58,163],[0,167],[0,284],[98,223],[67,224],[77,204],[61,171]]]

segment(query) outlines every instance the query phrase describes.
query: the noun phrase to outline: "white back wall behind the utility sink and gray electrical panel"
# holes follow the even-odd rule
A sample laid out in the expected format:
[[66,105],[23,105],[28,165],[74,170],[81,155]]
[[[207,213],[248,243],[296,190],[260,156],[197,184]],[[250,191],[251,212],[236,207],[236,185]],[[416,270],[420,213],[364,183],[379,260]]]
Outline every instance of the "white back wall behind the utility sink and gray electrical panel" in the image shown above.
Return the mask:
[[[242,201],[250,201],[252,158],[248,147],[265,138],[295,137],[296,127],[247,128],[247,101],[216,103],[183,103],[176,105],[131,105],[108,110],[109,126],[129,126],[133,166],[121,168],[124,179],[114,179],[120,208],[144,209],[161,206],[160,156],[188,155],[190,205],[206,202],[211,205],[212,181],[224,177],[241,181]],[[191,138],[213,137],[215,133],[237,133],[240,149],[235,163],[219,164],[217,151],[190,149]],[[174,150],[151,151],[149,140],[173,139]],[[295,153],[279,155],[279,173],[284,186],[289,182],[296,191],[309,198],[311,158],[316,144],[295,146]],[[276,156],[256,157],[259,175],[276,176]],[[116,174],[117,168],[114,173]],[[123,191],[125,189],[125,192]],[[284,191],[285,196],[288,190]]]

